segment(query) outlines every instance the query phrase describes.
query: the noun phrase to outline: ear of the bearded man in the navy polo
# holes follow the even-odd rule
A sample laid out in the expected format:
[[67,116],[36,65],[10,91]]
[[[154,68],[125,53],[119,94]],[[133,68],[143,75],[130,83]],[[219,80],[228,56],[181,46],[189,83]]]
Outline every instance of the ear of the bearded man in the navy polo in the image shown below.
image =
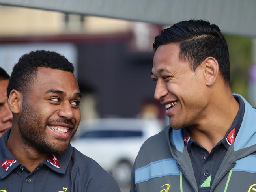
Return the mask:
[[8,98],[8,105],[11,112],[13,112],[14,114],[19,114],[21,112],[22,99],[22,93],[15,89],[11,90],[11,93]]

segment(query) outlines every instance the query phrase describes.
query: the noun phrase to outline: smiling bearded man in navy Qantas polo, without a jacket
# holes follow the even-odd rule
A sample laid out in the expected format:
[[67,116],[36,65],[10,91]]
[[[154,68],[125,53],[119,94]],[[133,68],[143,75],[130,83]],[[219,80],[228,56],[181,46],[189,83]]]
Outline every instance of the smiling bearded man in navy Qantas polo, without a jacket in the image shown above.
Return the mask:
[[120,192],[111,175],[69,143],[81,118],[73,71],[64,56],[44,50],[13,67],[13,125],[0,138],[0,191]]

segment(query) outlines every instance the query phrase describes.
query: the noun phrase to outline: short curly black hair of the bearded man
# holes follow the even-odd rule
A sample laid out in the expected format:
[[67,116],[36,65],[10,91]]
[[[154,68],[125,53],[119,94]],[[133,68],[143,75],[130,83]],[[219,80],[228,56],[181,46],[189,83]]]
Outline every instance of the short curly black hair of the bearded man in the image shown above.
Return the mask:
[[28,85],[36,80],[38,67],[74,73],[73,64],[59,53],[45,50],[32,51],[21,56],[14,65],[7,88],[7,97],[13,89],[26,94]]

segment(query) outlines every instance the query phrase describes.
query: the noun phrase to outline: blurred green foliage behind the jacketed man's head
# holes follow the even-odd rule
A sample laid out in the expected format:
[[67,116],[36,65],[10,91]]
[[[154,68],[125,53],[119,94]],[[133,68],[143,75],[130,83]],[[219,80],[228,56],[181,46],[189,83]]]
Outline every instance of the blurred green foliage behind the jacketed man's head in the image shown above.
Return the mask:
[[230,54],[230,86],[233,93],[248,99],[248,70],[252,63],[252,39],[224,35]]

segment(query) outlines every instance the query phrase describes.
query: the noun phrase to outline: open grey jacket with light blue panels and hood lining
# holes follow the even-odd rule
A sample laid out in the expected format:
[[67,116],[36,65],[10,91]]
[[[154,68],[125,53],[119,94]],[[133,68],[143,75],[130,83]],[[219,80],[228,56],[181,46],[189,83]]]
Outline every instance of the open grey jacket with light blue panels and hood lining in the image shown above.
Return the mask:
[[[241,98],[243,121],[208,186],[211,192],[256,191],[256,109]],[[198,192],[182,130],[166,127],[144,142],[133,165],[131,192]]]

